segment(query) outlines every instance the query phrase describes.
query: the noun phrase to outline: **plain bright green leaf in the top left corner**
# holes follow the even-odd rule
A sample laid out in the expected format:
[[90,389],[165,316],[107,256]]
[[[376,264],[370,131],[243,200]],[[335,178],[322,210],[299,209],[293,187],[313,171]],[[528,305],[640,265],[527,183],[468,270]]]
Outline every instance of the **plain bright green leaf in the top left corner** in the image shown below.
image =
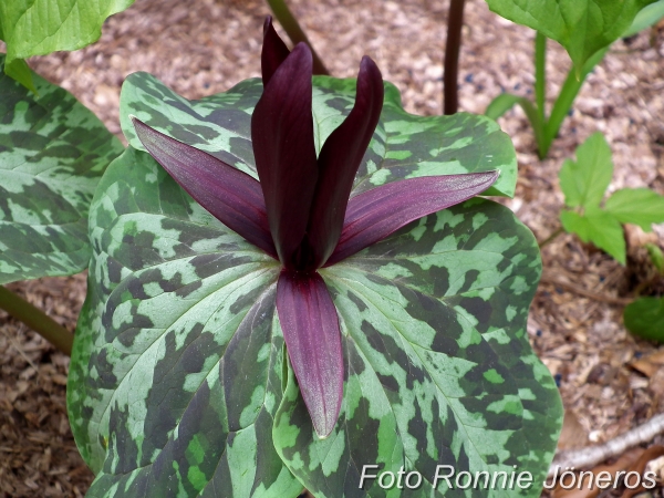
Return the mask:
[[100,39],[107,17],[134,0],[0,0],[7,60],[82,49]]

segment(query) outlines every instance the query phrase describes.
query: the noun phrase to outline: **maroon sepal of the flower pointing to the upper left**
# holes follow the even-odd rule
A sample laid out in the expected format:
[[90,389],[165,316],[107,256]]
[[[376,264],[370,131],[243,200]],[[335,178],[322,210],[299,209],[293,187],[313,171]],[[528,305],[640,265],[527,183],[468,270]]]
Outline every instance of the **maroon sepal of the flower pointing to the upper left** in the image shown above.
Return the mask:
[[147,152],[198,204],[249,242],[277,257],[258,181],[135,117],[132,121]]

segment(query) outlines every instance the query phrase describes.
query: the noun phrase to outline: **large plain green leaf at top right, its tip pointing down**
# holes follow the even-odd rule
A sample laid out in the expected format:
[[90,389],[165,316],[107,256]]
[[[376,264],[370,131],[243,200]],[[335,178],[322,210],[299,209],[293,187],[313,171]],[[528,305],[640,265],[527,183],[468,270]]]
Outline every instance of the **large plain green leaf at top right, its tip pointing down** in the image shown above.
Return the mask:
[[655,1],[487,0],[487,3],[498,15],[559,42],[580,72],[592,54],[623,37],[639,11]]

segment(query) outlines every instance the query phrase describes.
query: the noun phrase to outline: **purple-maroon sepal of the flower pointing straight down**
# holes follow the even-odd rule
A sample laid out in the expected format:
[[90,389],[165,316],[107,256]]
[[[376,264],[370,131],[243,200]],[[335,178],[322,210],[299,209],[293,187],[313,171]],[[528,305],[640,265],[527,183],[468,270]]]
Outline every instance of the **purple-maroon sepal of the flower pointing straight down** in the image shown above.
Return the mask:
[[313,427],[328,437],[341,409],[343,356],[336,309],[322,277],[282,270],[277,312]]

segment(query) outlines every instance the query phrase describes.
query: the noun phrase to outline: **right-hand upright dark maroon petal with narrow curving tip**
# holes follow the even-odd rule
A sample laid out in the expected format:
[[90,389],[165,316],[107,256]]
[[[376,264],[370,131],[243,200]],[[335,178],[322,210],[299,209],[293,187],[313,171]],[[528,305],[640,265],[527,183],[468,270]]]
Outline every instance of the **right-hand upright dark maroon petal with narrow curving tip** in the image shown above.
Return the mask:
[[355,105],[328,137],[318,159],[320,179],[308,229],[314,268],[325,262],[339,241],[353,179],[381,117],[383,95],[381,71],[364,56],[357,74]]

